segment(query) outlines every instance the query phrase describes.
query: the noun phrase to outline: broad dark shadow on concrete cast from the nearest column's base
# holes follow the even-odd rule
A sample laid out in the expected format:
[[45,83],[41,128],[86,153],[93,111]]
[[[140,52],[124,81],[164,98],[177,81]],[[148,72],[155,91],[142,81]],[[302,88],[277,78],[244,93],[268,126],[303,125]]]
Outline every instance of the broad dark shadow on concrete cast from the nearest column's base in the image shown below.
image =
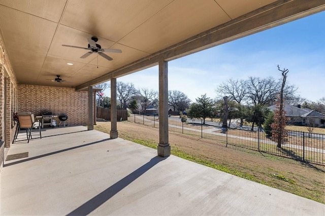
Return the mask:
[[141,175],[143,175],[146,171],[152,168],[154,165],[159,163],[160,161],[165,160],[167,157],[155,156],[150,159],[149,162],[142,165],[135,171],[131,172],[131,174],[127,175],[120,181],[116,182],[111,187],[107,188],[105,191],[91,198],[75,210],[71,211],[67,215],[87,215],[91,213],[93,210],[101,206],[104,202],[112,198],[115,194],[121,191],[123,188],[131,184],[133,181],[138,179]]

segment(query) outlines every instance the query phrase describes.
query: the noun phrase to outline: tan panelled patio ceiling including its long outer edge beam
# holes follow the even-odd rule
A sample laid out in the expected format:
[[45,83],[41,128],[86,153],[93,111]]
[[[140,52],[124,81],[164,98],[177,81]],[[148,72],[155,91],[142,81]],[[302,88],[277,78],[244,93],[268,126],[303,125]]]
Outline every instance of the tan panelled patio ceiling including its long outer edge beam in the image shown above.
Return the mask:
[[[0,34],[18,83],[81,90],[323,10],[322,0],[0,0]],[[94,35],[122,53],[82,59],[89,50],[61,46]]]

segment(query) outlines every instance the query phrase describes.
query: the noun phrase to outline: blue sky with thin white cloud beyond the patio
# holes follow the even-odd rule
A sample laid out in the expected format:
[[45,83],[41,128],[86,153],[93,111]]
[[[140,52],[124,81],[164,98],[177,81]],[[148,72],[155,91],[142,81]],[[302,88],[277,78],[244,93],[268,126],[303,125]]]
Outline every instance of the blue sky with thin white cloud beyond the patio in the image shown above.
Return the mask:
[[[216,98],[218,84],[249,76],[281,78],[298,87],[298,95],[310,101],[325,97],[325,12],[280,25],[168,64],[169,90],[185,93],[192,102],[203,94]],[[158,66],[117,79],[137,89],[158,90]],[[104,92],[110,96],[109,90]]]

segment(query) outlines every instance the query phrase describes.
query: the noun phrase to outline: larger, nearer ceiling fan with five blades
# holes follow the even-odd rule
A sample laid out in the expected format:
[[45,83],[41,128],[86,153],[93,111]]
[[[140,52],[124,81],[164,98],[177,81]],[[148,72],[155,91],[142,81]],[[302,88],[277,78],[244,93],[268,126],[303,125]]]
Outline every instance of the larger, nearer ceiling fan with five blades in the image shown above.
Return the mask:
[[98,55],[103,56],[105,59],[112,61],[113,59],[106,55],[106,53],[122,53],[121,50],[118,49],[102,49],[101,45],[96,44],[98,41],[98,37],[92,36],[91,38],[87,38],[88,40],[88,48],[84,47],[77,47],[77,46],[72,46],[72,45],[62,45],[63,47],[72,47],[72,48],[78,48],[78,49],[83,49],[83,50],[90,50],[90,52],[87,52],[85,55],[81,56],[81,59],[87,58],[90,56],[92,53],[98,53]]

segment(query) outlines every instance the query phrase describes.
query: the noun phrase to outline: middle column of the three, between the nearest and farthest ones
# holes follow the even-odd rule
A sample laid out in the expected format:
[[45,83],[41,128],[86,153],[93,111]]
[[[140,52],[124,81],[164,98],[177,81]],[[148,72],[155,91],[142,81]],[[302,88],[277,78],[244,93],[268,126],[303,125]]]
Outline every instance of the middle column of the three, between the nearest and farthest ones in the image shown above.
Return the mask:
[[111,139],[118,138],[117,107],[116,107],[116,78],[111,78]]

